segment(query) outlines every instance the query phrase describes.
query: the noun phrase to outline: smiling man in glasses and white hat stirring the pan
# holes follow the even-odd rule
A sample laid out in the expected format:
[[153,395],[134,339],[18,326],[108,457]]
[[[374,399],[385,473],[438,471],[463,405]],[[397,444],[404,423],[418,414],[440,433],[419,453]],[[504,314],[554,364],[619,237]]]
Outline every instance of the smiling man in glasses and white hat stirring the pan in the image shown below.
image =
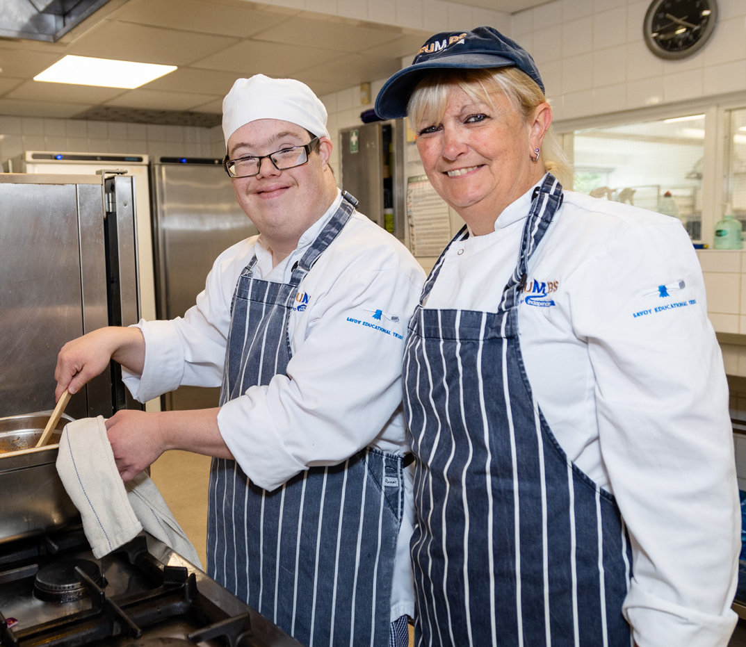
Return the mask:
[[110,359],[142,402],[222,385],[219,408],[108,420],[122,478],[166,449],[212,455],[213,578],[301,643],[406,645],[401,358],[424,273],[337,189],[327,113],[307,86],[239,79],[223,113],[225,168],[260,235],[216,259],[184,318],[66,344],[57,395]]

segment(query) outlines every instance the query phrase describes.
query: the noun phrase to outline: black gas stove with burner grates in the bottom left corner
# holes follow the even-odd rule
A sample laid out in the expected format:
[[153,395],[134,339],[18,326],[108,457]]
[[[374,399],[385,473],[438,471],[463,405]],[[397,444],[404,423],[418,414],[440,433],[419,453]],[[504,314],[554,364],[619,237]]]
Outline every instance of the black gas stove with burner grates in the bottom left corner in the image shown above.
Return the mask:
[[3,647],[299,647],[141,533],[97,559],[80,526],[0,544]]

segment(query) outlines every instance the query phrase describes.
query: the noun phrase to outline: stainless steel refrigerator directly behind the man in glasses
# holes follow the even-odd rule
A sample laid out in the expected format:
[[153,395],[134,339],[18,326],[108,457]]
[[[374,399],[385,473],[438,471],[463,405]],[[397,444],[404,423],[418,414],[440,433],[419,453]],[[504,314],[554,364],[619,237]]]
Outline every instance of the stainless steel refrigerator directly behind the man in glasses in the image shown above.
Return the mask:
[[[160,157],[151,161],[150,186],[156,312],[171,319],[194,305],[219,253],[257,229],[238,205],[222,160]],[[161,406],[209,408],[218,400],[219,388],[182,386]]]

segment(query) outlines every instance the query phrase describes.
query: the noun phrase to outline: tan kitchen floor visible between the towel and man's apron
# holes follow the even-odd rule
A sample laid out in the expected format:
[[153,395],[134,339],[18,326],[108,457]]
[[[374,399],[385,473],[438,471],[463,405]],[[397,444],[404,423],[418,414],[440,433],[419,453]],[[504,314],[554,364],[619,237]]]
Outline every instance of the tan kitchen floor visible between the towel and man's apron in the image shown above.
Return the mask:
[[[163,499],[194,544],[207,567],[207,483],[210,479],[210,458],[191,452],[166,452],[151,467],[151,478]],[[413,644],[410,625],[410,645]],[[746,647],[745,643],[733,643]]]

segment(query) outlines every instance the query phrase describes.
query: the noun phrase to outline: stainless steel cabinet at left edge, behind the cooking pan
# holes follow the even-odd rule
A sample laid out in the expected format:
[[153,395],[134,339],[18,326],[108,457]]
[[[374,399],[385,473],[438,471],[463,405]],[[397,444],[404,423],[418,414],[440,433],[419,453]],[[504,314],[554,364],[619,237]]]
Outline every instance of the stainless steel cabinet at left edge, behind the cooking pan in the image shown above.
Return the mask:
[[[0,417],[54,408],[66,341],[137,322],[133,178],[0,174]],[[74,418],[140,408],[119,366],[72,396]]]

